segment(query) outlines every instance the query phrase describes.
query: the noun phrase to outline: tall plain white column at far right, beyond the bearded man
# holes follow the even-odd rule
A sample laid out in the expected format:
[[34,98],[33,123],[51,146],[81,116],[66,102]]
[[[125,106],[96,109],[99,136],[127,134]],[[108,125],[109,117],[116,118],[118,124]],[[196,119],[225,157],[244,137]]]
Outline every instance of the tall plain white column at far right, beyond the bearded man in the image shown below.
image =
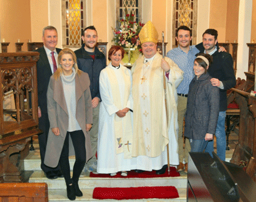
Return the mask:
[[251,40],[252,0],[240,0],[238,18],[237,78],[245,79],[248,72],[249,48]]

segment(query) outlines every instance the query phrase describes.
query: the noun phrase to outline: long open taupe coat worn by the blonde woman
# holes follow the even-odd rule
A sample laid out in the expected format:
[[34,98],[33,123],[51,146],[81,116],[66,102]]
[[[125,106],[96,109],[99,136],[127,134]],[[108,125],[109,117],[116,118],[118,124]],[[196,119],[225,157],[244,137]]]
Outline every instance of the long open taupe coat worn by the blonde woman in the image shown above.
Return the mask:
[[[85,149],[87,161],[92,157],[91,140],[89,132],[85,130],[85,124],[92,124],[92,102],[89,89],[90,81],[87,73],[81,72],[75,75],[75,98],[76,98],[76,117],[85,134]],[[44,163],[49,167],[58,166],[62,147],[68,130],[68,109],[65,102],[64,89],[61,78],[55,80],[51,76],[47,91],[47,108],[50,122],[50,130],[46,144],[46,153]],[[52,133],[53,127],[59,127],[59,136]],[[69,138],[69,155],[74,155],[74,147],[71,138]]]

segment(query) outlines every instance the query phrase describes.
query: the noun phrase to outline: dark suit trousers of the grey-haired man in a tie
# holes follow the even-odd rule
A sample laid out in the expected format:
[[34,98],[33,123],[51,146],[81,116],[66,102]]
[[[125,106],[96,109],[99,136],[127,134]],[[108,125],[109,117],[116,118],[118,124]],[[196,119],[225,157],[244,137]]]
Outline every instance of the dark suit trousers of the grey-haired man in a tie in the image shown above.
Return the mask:
[[44,160],[45,160],[45,151],[46,151],[46,143],[48,139],[48,133],[50,128],[50,123],[48,119],[47,113],[42,113],[42,116],[38,119],[38,125],[39,129],[43,131],[43,133],[38,134],[38,143],[39,143],[39,150],[40,150],[40,156],[41,156],[41,169],[46,173],[48,171],[56,171],[59,170],[59,166],[52,168],[45,166]]

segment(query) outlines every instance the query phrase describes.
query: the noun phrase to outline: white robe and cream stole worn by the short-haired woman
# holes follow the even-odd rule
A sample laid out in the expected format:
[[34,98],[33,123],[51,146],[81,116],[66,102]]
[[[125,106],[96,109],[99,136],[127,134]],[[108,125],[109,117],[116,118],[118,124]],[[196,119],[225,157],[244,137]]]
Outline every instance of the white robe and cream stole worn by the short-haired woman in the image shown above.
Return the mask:
[[114,68],[110,63],[99,76],[99,91],[102,103],[99,107],[97,171],[116,173],[135,169],[136,159],[131,157],[131,112],[122,118],[116,114],[125,107],[132,109],[131,71],[124,66]]

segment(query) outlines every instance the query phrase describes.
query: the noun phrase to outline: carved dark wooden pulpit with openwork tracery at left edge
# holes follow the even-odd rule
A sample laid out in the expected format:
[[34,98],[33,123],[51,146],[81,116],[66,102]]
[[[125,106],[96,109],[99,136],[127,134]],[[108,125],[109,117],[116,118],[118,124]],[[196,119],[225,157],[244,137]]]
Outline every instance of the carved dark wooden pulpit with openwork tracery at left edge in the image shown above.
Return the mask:
[[0,182],[24,181],[23,160],[38,129],[37,52],[1,53]]

